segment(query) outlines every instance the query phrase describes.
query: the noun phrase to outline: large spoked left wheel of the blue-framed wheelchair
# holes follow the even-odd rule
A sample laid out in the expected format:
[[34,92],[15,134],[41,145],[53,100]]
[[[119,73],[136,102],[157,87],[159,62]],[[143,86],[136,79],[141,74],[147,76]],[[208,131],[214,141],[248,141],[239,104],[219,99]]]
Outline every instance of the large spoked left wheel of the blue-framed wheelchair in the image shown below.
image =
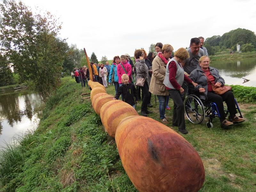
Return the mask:
[[200,124],[204,121],[204,104],[196,95],[188,95],[184,101],[184,108],[191,123]]

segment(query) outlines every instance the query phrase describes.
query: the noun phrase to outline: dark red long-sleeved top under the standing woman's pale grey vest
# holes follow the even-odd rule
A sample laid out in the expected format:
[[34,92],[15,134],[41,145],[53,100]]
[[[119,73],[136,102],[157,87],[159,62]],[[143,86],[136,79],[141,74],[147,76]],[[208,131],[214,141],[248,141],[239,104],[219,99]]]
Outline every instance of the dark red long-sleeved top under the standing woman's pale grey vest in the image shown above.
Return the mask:
[[[179,65],[180,65],[180,64],[179,64]],[[180,66],[180,67],[181,67],[181,66]],[[178,84],[177,81],[176,81],[176,79],[175,79],[176,72],[177,72],[177,65],[176,65],[175,61],[171,61],[171,62],[169,63],[168,68],[169,68],[169,81],[171,82],[172,86],[173,86],[175,89],[179,90],[179,89],[180,89],[180,84]],[[182,68],[182,67],[181,67],[181,68]],[[186,76],[185,74],[184,74],[184,80],[185,80],[186,82],[188,82],[188,83],[192,83],[192,80],[189,79],[189,77]],[[166,90],[169,90],[170,88],[165,87],[165,89],[166,89]]]

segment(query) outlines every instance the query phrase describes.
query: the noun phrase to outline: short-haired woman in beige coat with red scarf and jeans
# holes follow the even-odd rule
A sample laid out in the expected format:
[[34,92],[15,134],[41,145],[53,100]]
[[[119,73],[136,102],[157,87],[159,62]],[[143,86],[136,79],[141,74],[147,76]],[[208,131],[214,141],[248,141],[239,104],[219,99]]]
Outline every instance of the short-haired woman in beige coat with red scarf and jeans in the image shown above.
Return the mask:
[[167,118],[165,117],[165,103],[168,91],[165,89],[163,84],[165,77],[165,68],[170,60],[169,57],[172,55],[173,47],[170,44],[165,44],[162,52],[158,52],[152,63],[152,78],[149,85],[149,92],[155,94],[159,101],[159,115],[160,120],[163,124],[167,124]]

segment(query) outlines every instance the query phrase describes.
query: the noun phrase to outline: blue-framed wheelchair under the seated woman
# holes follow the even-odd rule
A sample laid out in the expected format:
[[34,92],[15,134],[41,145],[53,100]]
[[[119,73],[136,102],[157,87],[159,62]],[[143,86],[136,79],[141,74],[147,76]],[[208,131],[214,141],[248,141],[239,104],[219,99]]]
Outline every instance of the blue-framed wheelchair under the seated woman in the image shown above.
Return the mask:
[[[217,105],[216,103],[211,101],[204,101],[204,100],[202,101],[198,96],[199,96],[198,94],[196,95],[193,93],[188,95],[185,98],[184,108],[185,108],[186,116],[188,120],[194,124],[201,124],[204,122],[204,118],[208,117],[209,120],[206,123],[206,126],[208,128],[213,128],[212,119],[215,117],[220,118],[220,113],[217,108]],[[236,99],[235,99],[235,104],[236,104],[236,109],[240,114],[239,117],[243,118],[241,111],[238,107],[238,104],[236,102]],[[225,116],[228,116],[228,120],[230,120],[230,116],[228,115],[229,112],[227,108],[225,108],[225,106],[224,106],[224,112],[225,112]]]

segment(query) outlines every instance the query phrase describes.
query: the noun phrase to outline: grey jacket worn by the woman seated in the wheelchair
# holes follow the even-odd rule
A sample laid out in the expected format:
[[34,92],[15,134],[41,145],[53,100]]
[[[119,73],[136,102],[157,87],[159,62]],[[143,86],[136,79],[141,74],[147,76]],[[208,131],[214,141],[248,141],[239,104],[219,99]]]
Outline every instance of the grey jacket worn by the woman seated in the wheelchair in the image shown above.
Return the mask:
[[[219,71],[213,67],[209,67],[209,68],[210,68],[210,73],[212,74],[212,76],[215,77],[215,83],[219,82],[221,86],[225,85],[225,81],[220,76]],[[198,91],[199,88],[204,88],[205,90],[204,93],[207,95],[208,83],[207,83],[207,78],[206,76],[204,76],[203,73],[204,71],[202,70],[202,68],[200,66],[197,66],[197,68],[190,73],[189,78],[198,84],[196,85],[195,90]],[[200,94],[200,99],[205,100],[206,99],[205,95]]]

